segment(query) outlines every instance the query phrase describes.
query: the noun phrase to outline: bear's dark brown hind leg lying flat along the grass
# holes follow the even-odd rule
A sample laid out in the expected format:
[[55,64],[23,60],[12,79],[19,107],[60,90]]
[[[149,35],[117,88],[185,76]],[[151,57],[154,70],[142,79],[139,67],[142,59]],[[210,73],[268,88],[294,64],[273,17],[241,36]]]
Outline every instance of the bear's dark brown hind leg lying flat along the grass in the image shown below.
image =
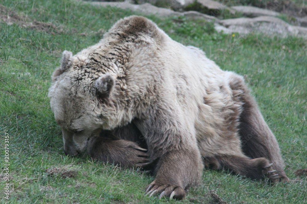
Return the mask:
[[246,156],[212,156],[204,157],[204,165],[211,169],[229,170],[252,179],[262,179],[264,176],[276,179],[278,174],[272,169],[272,164],[266,158],[251,159]]

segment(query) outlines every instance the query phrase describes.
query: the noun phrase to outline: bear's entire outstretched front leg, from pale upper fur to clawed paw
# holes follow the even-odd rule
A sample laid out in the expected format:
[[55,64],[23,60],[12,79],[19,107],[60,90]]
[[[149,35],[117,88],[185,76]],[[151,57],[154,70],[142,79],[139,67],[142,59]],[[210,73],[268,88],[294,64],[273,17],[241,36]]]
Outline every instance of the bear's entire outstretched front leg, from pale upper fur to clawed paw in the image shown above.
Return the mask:
[[159,198],[184,199],[185,190],[198,184],[202,176],[203,164],[193,135],[195,131],[188,128],[189,121],[179,117],[179,110],[174,106],[164,104],[151,111],[144,114],[148,118],[134,120],[145,136],[150,160],[156,164],[153,169],[156,178],[146,188],[146,193],[160,194]]

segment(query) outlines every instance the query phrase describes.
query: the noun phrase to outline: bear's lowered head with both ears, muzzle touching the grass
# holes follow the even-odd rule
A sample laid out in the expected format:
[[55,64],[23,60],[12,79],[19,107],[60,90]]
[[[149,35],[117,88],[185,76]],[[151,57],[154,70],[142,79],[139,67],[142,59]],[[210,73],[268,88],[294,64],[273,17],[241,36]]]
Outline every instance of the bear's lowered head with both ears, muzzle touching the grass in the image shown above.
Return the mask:
[[64,51],[61,67],[52,75],[51,109],[62,128],[64,152],[77,155],[101,129],[111,129],[111,103],[115,79],[108,73],[91,72],[85,59]]

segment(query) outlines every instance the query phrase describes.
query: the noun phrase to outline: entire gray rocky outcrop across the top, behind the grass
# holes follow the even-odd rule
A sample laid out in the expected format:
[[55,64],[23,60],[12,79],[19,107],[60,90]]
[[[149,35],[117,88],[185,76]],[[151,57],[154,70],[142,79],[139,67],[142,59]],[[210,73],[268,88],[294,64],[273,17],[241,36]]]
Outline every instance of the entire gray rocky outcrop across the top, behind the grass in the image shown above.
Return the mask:
[[[146,0],[144,0],[145,2]],[[150,0],[148,0],[150,1]],[[148,2],[146,1],[146,2]],[[154,0],[152,0],[153,2]],[[160,0],[161,1],[161,0]],[[169,0],[169,2],[174,2],[175,0]],[[224,33],[241,33],[241,34],[248,34],[248,33],[266,33],[269,35],[279,35],[279,36],[301,36],[307,39],[307,28],[293,26],[285,21],[277,18],[280,13],[259,9],[257,7],[252,6],[233,6],[231,8],[224,6],[218,2],[214,2],[212,0],[197,0],[197,2],[193,2],[194,4],[197,3],[198,5],[201,4],[207,9],[211,9],[212,11],[220,11],[220,10],[228,10],[230,12],[240,12],[243,13],[244,18],[235,18],[235,19],[226,19],[220,20],[212,15],[207,15],[204,13],[200,13],[197,11],[185,11],[179,12],[174,11],[172,9],[160,8],[157,6],[153,6],[150,3],[142,3],[132,4],[130,3],[131,0],[126,2],[89,2],[95,6],[116,6],[122,9],[130,9],[137,13],[143,14],[155,14],[157,16],[185,16],[192,19],[204,19],[207,21],[214,22],[215,29],[217,31],[223,31]],[[139,1],[138,1],[139,2]],[[153,3],[157,4],[158,1]],[[176,0],[178,3],[177,5],[185,5],[186,3],[190,2],[188,0]],[[191,5],[191,4],[190,4]],[[219,9],[219,10],[218,10]],[[298,25],[307,25],[306,18],[297,18]]]

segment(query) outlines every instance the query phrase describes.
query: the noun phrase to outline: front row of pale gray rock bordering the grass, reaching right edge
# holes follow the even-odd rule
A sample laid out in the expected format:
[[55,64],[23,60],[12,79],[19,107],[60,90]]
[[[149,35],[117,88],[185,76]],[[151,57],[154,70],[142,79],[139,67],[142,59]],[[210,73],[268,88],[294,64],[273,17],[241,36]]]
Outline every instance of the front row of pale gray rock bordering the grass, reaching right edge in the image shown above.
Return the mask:
[[[128,2],[88,2],[95,6],[116,6],[122,9],[130,9],[132,11],[143,14],[156,14],[157,16],[185,16],[192,19],[204,19],[214,22],[215,29],[224,33],[266,33],[269,35],[288,36],[295,35],[307,38],[307,28],[292,26],[285,21],[273,16],[259,16],[255,18],[236,18],[219,20],[215,17],[208,16],[196,11],[177,12],[171,9],[158,8],[149,3],[142,5],[130,4]],[[212,8],[212,7],[211,7]]]

